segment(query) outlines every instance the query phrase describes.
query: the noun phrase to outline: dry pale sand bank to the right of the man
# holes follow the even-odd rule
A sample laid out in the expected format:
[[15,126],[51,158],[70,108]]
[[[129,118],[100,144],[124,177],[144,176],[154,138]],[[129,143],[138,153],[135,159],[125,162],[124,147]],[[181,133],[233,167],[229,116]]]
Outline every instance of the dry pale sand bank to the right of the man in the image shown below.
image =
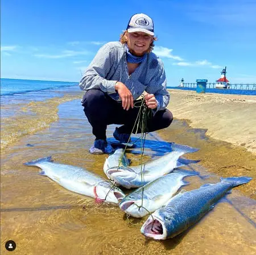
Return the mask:
[[206,135],[256,154],[256,97],[168,89],[168,110],[174,118],[187,120]]

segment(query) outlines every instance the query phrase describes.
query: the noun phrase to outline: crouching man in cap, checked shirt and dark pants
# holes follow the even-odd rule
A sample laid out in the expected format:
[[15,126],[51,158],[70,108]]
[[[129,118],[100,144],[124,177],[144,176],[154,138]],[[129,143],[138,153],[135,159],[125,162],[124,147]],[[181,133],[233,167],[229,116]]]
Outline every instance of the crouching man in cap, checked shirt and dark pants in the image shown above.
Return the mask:
[[152,111],[147,132],[170,126],[173,117],[166,109],[170,95],[166,90],[164,66],[151,52],[155,40],[152,19],[135,14],[120,41],[102,46],[86,69],[79,86],[86,91],[82,106],[96,137],[90,153],[113,153],[106,141],[109,124],[123,124],[115,128],[113,136],[120,143],[129,142],[139,112],[134,100],[144,91],[144,101]]

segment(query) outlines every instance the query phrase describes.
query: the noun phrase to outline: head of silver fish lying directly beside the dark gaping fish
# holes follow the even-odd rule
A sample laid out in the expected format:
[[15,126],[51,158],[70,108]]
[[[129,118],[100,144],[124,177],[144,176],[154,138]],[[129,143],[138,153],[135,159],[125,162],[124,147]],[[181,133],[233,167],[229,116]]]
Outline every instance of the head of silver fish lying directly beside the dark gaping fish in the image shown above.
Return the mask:
[[146,196],[133,196],[127,195],[119,203],[119,207],[122,211],[126,212],[135,218],[142,218],[143,216],[149,214],[147,208],[149,208],[149,200]]

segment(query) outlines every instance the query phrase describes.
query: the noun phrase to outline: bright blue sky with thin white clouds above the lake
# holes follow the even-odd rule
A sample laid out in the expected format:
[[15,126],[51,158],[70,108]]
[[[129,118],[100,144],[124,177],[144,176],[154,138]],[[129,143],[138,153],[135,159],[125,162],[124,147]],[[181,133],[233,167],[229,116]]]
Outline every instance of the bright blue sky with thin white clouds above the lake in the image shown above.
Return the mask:
[[168,86],[227,66],[230,82],[256,82],[256,0],[1,1],[1,78],[77,82],[130,16],[154,20],[154,52]]

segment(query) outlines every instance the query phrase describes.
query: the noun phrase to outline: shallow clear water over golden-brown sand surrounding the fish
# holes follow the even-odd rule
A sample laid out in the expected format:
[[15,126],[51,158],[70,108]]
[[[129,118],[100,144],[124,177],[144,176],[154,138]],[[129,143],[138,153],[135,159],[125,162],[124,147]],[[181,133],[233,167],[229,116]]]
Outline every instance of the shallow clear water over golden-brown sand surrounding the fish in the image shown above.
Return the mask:
[[[173,129],[182,125],[174,122]],[[111,137],[114,126],[107,136]],[[171,127],[166,132],[171,132]],[[65,190],[38,174],[39,168],[22,163],[52,156],[55,162],[81,166],[104,176],[106,155],[91,155],[91,128],[80,100],[59,106],[59,120],[47,129],[22,136],[1,154],[1,254],[7,240],[14,240],[13,254],[255,254],[255,200],[234,189],[199,223],[171,240],[154,241],[140,233],[147,219],[131,219],[113,204],[96,204],[94,199]],[[189,135],[191,130],[188,129]],[[204,139],[193,132],[193,139]],[[173,134],[175,135],[175,134]],[[156,133],[147,136],[145,161],[159,157],[170,143]],[[110,139],[111,140],[111,139]],[[189,143],[189,141],[188,141]],[[127,153],[138,165],[139,148]],[[197,155],[196,153],[193,153]],[[197,158],[201,159],[201,158]],[[188,177],[186,190],[203,183],[218,182],[200,163],[191,164],[205,178]],[[208,177],[208,178],[206,178]]]

